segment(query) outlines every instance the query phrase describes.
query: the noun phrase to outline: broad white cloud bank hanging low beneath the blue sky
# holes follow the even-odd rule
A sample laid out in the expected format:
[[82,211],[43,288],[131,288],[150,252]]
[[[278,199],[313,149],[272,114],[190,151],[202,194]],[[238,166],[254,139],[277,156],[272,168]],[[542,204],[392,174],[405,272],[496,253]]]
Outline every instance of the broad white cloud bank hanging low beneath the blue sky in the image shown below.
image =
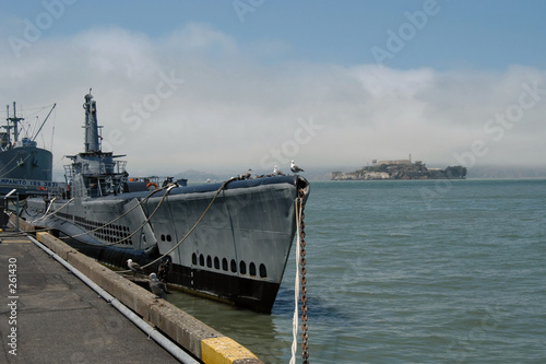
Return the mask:
[[[163,38],[115,27],[44,37],[22,49],[21,58],[8,43],[2,47],[4,103],[58,103],[58,168],[62,155],[83,146],[81,104],[90,87],[104,136],[120,133],[109,142],[116,153],[128,154],[129,172],[138,174],[221,166],[257,171],[278,156],[280,164],[294,157],[306,166],[358,166],[412,153],[429,165],[453,165],[453,153],[470,151],[475,140],[489,148],[477,157],[482,164],[544,165],[545,70],[514,66],[492,74],[264,64],[257,60],[263,47],[257,45],[252,54],[203,24]],[[280,52],[286,49],[278,46]],[[168,89],[165,77],[178,80],[176,90]],[[523,84],[534,83],[539,99],[505,128],[502,138],[500,131],[484,131],[490,118],[519,103]],[[302,127],[311,119],[320,129]]]

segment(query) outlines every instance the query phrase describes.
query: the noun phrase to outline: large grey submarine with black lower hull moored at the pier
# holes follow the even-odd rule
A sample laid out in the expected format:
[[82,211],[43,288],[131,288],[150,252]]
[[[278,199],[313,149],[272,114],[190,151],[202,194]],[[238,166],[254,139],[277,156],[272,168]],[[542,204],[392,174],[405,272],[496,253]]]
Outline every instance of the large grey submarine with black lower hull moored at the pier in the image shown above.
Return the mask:
[[[28,198],[24,216],[54,228],[99,261],[127,269],[163,257],[167,281],[185,290],[270,313],[296,233],[299,175],[239,176],[190,185],[130,178],[124,155],[103,152],[96,102],[85,95],[85,151],[66,166],[70,191]],[[150,266],[155,271],[158,263]]]

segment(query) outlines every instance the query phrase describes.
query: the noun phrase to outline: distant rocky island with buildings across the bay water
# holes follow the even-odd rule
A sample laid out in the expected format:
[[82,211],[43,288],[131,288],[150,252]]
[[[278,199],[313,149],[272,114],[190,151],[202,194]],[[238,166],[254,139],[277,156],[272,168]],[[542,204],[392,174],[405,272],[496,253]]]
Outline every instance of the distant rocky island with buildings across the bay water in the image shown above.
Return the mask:
[[427,168],[422,161],[380,161],[355,172],[332,172],[332,180],[380,180],[380,179],[463,179],[466,167],[450,166],[446,169]]

